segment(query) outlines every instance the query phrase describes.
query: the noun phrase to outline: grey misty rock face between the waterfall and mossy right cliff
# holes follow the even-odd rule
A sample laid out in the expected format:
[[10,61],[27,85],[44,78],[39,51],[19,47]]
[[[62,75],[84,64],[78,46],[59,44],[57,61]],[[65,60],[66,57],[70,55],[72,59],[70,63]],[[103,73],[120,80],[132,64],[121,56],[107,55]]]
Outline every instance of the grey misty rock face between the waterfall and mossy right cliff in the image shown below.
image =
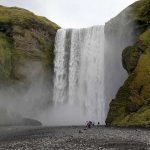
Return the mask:
[[[127,8],[105,24],[104,86],[105,101],[110,103],[128,74],[122,67],[122,51],[136,41],[136,26]],[[109,104],[106,105],[107,107]],[[109,108],[106,108],[107,110]]]

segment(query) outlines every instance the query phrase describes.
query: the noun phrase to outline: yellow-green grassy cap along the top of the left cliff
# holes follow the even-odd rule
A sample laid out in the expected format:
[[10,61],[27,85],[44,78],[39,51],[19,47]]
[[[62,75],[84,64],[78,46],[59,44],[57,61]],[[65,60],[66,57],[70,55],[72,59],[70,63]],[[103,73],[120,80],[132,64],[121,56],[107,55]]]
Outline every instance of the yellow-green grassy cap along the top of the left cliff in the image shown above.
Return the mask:
[[[30,24],[29,24],[30,22]],[[36,16],[32,12],[17,7],[4,7],[0,5],[0,23],[10,23],[14,25],[22,25],[28,27],[29,25],[46,25],[53,29],[59,29],[60,27],[55,23],[49,21],[45,17]]]

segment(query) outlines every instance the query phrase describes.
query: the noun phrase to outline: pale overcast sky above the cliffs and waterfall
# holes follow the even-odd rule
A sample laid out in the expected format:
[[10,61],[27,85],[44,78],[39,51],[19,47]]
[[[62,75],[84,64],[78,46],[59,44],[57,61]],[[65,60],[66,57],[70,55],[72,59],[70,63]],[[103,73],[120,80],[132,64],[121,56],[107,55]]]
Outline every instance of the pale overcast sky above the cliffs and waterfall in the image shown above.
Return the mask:
[[137,0],[0,0],[45,16],[63,28],[103,25]]

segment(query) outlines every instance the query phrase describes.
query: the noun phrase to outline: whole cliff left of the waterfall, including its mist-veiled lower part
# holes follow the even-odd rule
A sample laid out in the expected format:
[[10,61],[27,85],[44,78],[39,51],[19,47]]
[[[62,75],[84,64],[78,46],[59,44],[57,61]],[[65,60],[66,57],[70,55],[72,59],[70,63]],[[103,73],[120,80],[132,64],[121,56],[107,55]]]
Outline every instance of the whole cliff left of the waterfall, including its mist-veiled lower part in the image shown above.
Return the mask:
[[0,6],[0,113],[9,116],[0,124],[16,114],[36,118],[50,103],[58,28],[27,10]]

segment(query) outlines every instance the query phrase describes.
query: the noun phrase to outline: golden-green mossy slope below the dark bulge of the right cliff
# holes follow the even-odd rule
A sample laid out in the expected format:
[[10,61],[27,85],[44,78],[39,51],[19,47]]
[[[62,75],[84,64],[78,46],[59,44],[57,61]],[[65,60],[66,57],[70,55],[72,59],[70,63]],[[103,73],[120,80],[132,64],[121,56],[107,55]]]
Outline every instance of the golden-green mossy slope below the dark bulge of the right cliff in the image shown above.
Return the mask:
[[[130,70],[129,78],[118,91],[116,99],[110,104],[107,124],[148,125],[150,122],[147,119],[150,118],[150,114],[148,114],[150,110],[147,107],[150,102],[150,53],[149,47],[147,47],[147,38],[142,40],[143,43],[146,43],[146,46],[144,46],[146,49],[143,49],[138,61],[136,60],[137,65],[135,65],[135,61],[132,63],[130,60],[135,56],[132,51],[128,56],[129,59],[124,60],[133,70]],[[132,48],[136,46],[138,44]]]

